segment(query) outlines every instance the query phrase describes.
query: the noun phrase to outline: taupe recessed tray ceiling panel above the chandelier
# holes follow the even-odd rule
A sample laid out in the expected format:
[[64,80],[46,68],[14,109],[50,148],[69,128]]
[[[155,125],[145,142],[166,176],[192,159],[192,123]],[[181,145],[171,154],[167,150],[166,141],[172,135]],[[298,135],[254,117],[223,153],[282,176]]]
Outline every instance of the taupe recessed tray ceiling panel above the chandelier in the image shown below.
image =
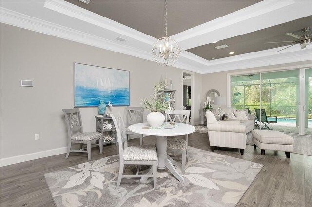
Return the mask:
[[[165,35],[164,0],[66,0],[157,39]],[[183,32],[262,0],[168,0],[168,36]]]

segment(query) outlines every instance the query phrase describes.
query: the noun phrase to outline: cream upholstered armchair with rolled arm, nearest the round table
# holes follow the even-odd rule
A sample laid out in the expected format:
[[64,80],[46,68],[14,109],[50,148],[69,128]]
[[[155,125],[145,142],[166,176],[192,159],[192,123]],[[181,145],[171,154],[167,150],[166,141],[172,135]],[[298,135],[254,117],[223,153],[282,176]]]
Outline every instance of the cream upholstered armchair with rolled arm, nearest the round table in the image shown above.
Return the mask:
[[207,129],[210,146],[213,152],[215,147],[229,147],[240,149],[244,155],[246,149],[246,126],[239,121],[217,121],[211,111],[206,111]]

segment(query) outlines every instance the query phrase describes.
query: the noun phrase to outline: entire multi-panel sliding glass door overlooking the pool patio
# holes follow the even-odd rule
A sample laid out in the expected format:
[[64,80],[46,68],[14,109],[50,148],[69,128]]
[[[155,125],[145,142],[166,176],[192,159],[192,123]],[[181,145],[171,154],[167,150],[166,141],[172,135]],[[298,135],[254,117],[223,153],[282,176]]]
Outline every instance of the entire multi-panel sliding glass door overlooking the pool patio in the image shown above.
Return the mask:
[[258,128],[312,135],[312,68],[231,76],[231,105],[265,111]]

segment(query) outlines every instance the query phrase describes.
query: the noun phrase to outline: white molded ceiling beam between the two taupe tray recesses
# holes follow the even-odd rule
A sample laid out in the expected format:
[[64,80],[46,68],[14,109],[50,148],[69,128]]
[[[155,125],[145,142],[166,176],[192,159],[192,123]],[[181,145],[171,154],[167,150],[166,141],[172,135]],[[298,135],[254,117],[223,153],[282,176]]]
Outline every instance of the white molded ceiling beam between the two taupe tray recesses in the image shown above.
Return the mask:
[[264,0],[173,35],[172,38],[179,43],[180,49],[187,50],[310,16],[311,6],[311,1],[304,0]]

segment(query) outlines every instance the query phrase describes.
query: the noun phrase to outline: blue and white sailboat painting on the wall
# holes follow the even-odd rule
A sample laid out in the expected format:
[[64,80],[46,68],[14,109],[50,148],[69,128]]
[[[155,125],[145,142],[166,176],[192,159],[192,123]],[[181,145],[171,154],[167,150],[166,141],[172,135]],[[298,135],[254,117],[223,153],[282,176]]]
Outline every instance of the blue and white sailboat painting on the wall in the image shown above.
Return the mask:
[[97,107],[100,100],[129,105],[129,71],[80,63],[74,71],[75,107]]

